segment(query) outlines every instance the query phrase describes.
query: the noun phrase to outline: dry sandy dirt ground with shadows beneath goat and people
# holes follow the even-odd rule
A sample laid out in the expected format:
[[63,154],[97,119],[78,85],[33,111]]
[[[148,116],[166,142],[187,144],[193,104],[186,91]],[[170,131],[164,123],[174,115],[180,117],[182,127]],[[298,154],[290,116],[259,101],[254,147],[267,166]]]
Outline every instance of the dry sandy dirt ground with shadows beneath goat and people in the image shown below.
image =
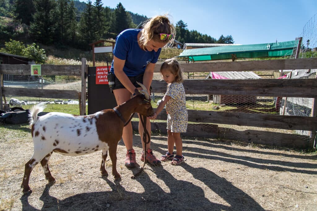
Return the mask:
[[[137,161],[139,135],[134,135]],[[156,156],[167,150],[166,136],[152,136]],[[40,164],[31,173],[33,192],[23,195],[24,164],[33,154],[29,137],[0,140],[1,210],[316,210],[316,154],[272,149],[210,139],[183,138],[185,163],[146,164],[127,169],[125,146],[118,145],[114,181],[111,161],[101,177],[101,151],[69,157],[53,153],[49,167],[56,182],[49,184]],[[109,158],[108,158],[109,159]],[[139,166],[138,166],[139,167]]]

